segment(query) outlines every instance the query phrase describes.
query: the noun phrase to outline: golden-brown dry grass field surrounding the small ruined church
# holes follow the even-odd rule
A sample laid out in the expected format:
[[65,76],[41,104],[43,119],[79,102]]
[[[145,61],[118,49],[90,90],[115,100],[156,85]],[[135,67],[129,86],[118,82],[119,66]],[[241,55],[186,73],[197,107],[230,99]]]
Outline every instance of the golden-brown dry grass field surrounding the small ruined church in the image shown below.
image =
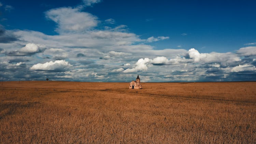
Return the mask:
[[255,143],[256,82],[0,83],[0,143]]

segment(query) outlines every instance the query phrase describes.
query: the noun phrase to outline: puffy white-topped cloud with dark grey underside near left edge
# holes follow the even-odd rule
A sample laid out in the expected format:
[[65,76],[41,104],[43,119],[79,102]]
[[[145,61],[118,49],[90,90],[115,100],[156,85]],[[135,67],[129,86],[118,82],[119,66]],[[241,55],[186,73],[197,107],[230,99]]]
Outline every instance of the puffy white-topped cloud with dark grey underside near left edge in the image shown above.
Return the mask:
[[35,53],[40,53],[45,49],[44,45],[28,43],[26,46],[20,48],[18,51],[7,52],[6,55],[9,56],[27,56],[33,55]]

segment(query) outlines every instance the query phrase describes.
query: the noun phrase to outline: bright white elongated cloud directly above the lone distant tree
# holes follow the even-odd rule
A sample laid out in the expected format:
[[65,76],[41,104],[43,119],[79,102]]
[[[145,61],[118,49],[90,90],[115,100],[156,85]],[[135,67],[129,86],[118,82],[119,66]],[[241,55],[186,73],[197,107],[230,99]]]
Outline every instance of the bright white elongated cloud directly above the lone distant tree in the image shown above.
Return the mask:
[[56,60],[46,63],[34,64],[30,70],[42,70],[42,71],[63,71],[65,68],[69,67],[69,62],[65,60]]

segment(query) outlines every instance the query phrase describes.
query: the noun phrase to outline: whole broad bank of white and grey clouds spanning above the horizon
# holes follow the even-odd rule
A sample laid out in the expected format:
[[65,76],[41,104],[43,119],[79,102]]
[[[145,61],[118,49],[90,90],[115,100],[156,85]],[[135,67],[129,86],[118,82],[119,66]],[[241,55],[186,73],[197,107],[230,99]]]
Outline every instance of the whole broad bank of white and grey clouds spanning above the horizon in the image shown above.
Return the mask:
[[56,24],[55,35],[0,26],[1,80],[129,82],[137,74],[142,82],[256,80],[255,46],[227,53],[200,53],[182,43],[179,49],[159,49],[151,44],[168,36],[142,39],[115,19],[85,12],[99,2],[46,11]]

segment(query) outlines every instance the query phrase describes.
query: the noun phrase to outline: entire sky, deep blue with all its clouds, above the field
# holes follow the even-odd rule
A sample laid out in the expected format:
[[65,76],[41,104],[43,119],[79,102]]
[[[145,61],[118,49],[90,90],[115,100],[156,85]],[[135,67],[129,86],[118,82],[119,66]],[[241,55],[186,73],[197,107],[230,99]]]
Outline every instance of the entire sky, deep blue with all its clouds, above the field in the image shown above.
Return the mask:
[[256,80],[253,0],[0,2],[2,80]]

